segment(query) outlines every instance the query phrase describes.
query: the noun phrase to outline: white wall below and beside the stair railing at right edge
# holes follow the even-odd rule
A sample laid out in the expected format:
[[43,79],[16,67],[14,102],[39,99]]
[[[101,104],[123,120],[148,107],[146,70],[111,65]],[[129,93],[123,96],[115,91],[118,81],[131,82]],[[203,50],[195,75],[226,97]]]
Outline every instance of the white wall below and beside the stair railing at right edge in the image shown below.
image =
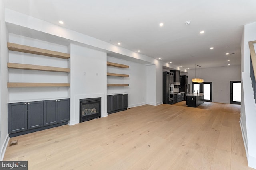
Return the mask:
[[250,49],[248,42],[256,40],[256,22],[244,25],[241,39],[242,101],[240,124],[248,166],[256,168],[256,107],[250,80]]

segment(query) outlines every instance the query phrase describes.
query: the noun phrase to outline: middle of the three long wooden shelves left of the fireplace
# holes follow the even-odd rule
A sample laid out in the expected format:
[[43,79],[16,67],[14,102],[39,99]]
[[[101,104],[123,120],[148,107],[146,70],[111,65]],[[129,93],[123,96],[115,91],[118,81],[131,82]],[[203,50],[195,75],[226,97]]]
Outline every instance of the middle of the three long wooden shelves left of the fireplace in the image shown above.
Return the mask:
[[51,66],[38,66],[31,64],[7,63],[8,68],[23,69],[23,70],[39,70],[39,71],[53,71],[53,72],[70,72],[70,68],[60,68]]

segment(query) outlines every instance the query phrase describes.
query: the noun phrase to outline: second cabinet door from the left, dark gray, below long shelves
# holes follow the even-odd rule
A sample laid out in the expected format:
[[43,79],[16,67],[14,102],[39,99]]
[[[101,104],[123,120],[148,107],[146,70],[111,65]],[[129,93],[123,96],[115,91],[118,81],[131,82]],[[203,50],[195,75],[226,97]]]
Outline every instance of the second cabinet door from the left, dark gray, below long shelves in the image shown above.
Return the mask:
[[28,102],[28,129],[44,126],[44,102]]

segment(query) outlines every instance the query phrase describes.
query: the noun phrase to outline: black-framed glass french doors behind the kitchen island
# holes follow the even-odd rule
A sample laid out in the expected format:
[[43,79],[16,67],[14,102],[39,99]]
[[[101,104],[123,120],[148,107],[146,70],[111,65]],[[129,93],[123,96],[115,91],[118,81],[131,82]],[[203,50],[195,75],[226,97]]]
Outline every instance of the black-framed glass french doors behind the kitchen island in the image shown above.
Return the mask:
[[196,90],[198,93],[204,93],[204,101],[212,102],[212,82],[192,82],[192,93],[195,93]]

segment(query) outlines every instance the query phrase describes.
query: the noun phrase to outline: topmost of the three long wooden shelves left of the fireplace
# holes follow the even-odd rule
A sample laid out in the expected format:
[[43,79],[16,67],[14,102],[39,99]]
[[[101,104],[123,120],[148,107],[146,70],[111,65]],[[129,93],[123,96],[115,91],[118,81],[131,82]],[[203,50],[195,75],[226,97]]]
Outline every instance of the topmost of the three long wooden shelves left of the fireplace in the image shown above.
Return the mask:
[[23,52],[23,53],[46,55],[46,56],[57,57],[57,58],[62,58],[62,59],[70,58],[70,54],[68,54],[68,53],[61,53],[58,51],[40,49],[40,48],[36,48],[36,47],[30,47],[30,46],[26,46],[26,45],[15,44],[15,43],[7,43],[7,47],[9,50],[19,51],[19,52]]

